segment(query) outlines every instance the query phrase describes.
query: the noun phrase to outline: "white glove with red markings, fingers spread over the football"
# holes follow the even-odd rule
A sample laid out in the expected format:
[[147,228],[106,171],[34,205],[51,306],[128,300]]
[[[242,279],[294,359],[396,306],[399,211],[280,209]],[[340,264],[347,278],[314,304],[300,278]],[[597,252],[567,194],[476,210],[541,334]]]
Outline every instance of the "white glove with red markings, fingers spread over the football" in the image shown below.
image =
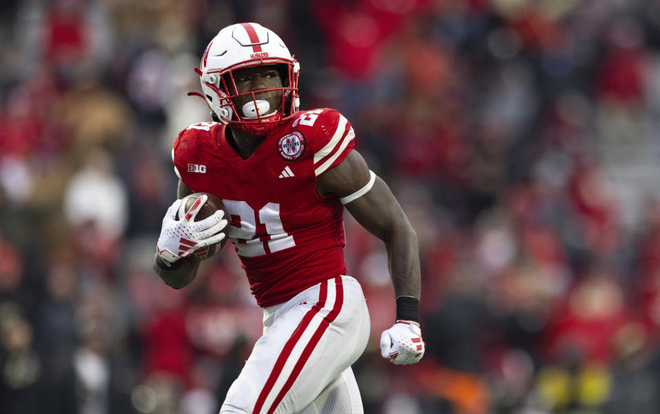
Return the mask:
[[177,262],[197,249],[225,238],[225,233],[220,233],[227,225],[227,220],[222,218],[224,211],[218,210],[203,220],[195,221],[195,216],[207,198],[206,195],[199,196],[186,215],[179,220],[176,219],[176,214],[181,200],[176,200],[167,209],[156,245],[158,255],[166,264]]

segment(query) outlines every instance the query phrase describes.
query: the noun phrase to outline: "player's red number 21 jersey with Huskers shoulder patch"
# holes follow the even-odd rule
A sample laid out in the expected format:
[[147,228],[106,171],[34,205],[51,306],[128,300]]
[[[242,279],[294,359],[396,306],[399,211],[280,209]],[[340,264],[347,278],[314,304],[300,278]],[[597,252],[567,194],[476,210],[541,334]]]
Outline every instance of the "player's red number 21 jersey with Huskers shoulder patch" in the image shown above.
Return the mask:
[[175,171],[194,192],[218,196],[230,212],[236,247],[259,306],[346,273],[344,207],[316,181],[355,146],[353,128],[333,109],[302,111],[242,159],[216,122],[191,125],[173,146]]

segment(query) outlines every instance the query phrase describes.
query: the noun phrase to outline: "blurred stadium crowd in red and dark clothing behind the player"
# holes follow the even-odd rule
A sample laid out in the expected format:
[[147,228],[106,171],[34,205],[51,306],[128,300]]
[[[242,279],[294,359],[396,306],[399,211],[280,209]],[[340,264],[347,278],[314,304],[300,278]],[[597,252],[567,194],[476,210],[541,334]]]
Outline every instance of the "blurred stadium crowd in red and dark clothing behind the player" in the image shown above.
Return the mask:
[[366,413],[660,412],[660,5],[641,0],[0,5],[0,413],[216,413],[259,336],[232,249],[151,271],[192,67],[255,21],[303,108],[351,120],[419,235],[422,363],[394,367],[382,243],[347,218]]

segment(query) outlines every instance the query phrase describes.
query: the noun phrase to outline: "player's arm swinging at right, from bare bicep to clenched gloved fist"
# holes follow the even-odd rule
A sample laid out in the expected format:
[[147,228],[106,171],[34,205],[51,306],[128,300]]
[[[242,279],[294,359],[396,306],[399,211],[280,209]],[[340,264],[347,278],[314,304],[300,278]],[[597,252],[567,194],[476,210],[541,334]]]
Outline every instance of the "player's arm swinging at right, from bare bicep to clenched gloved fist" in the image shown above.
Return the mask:
[[397,320],[383,332],[381,351],[384,358],[395,364],[416,363],[424,351],[419,330],[419,247],[401,205],[355,150],[335,168],[324,172],[316,187],[322,194],[339,196],[355,220],[385,243]]

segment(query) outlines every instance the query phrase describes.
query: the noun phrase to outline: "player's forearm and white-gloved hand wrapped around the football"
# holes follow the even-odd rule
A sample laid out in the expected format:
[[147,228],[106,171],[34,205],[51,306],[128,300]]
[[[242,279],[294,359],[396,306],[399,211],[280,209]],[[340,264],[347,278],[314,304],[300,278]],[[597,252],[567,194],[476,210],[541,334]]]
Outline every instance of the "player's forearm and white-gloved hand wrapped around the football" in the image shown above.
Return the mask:
[[[195,215],[202,203],[199,203],[196,209],[191,208],[188,213],[190,214],[190,219],[186,220],[181,218],[181,220],[174,220],[179,204],[181,203],[181,198],[184,198],[188,194],[192,194],[192,189],[184,184],[183,181],[179,180],[179,187],[177,188],[177,201],[168,209],[167,214],[163,220],[163,227],[161,229],[161,235],[158,239],[157,251],[153,257],[153,270],[163,281],[175,289],[183,288],[188,286],[192,280],[195,279],[197,275],[197,269],[199,268],[199,263],[201,260],[197,257],[190,255],[192,251],[188,251],[186,256],[179,255],[178,249],[175,245],[179,242],[179,236],[181,235],[181,230],[183,227],[195,226]],[[206,200],[204,200],[206,201]],[[188,216],[186,214],[186,216]],[[215,217],[215,218],[214,218]],[[212,218],[212,220],[208,220]],[[190,229],[188,237],[195,238],[198,243],[198,248],[204,245],[212,244],[213,240],[220,239],[220,235],[217,235],[217,232],[221,231],[222,228],[226,225],[226,220],[220,220],[217,218],[217,215],[210,216],[204,220],[201,220],[197,223],[202,223],[205,220],[208,220],[204,225],[201,225],[196,228]],[[208,226],[207,226],[208,225]],[[186,231],[185,229],[183,231]],[[206,238],[205,236],[211,235]],[[199,240],[198,240],[199,239]]]

